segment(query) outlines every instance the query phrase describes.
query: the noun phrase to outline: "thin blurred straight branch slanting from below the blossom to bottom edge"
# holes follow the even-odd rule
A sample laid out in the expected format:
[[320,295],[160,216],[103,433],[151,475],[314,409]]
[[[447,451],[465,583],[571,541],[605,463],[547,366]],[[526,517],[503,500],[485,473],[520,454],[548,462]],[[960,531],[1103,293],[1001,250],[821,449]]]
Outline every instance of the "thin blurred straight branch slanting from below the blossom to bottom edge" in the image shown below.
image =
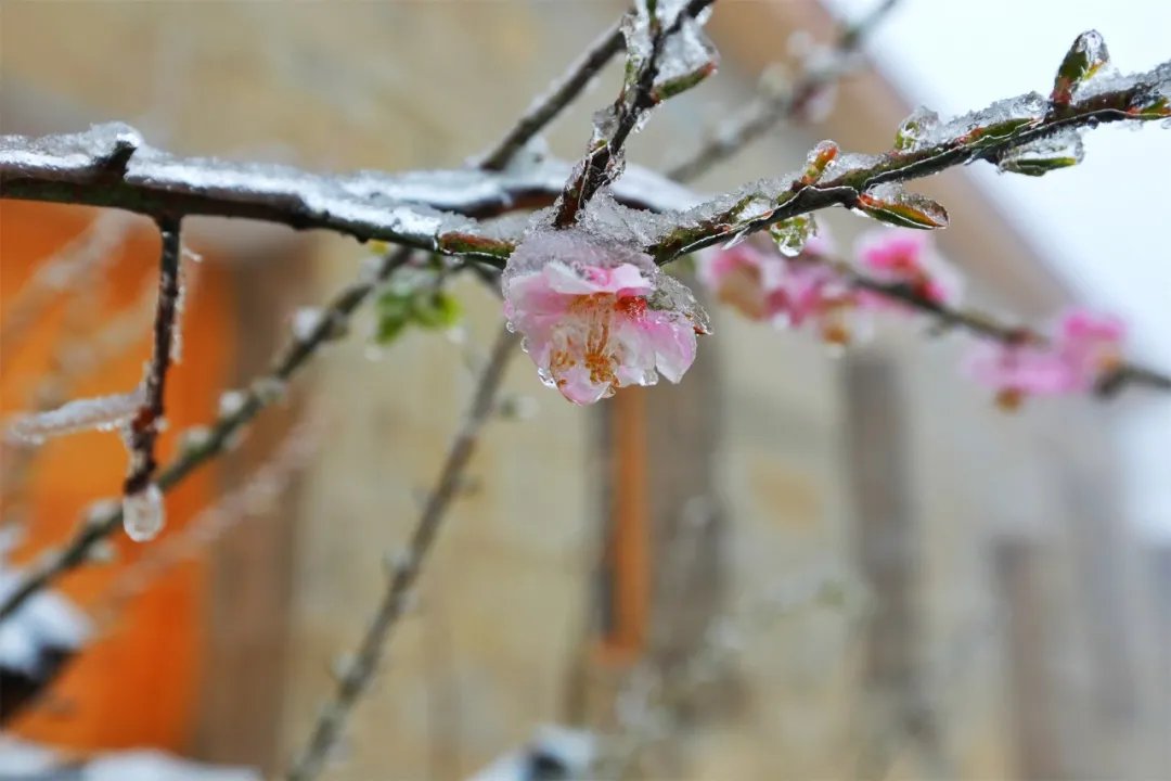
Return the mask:
[[497,409],[497,391],[504,379],[508,358],[516,354],[518,337],[500,329],[492,355],[485,364],[471,407],[456,433],[447,458],[439,471],[419,520],[411,533],[406,550],[392,564],[390,582],[352,658],[338,671],[337,688],[321,710],[309,740],[288,773],[289,781],[308,781],[319,775],[330,749],[336,744],[354,705],[365,693],[390,635],[403,616],[411,589],[415,588],[452,500],[459,493],[464,471],[475,448],[484,424]]

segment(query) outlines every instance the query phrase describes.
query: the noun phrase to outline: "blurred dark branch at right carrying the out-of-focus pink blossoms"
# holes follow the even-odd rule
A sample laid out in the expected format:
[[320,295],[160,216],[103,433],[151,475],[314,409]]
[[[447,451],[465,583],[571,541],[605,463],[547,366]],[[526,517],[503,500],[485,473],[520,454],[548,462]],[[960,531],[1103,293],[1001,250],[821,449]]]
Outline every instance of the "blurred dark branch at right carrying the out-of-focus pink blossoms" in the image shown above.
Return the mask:
[[[869,290],[884,299],[906,304],[912,309],[933,317],[946,328],[960,328],[1005,345],[1033,344],[1048,347],[1049,338],[1025,326],[1009,324],[992,315],[975,309],[967,309],[932,299],[922,289],[905,282],[886,282],[869,276],[850,263],[838,259],[826,259],[834,270],[849,285],[862,290]],[[1114,396],[1128,384],[1171,391],[1171,376],[1132,363],[1122,363],[1108,371],[1098,381],[1096,391],[1100,396]]]

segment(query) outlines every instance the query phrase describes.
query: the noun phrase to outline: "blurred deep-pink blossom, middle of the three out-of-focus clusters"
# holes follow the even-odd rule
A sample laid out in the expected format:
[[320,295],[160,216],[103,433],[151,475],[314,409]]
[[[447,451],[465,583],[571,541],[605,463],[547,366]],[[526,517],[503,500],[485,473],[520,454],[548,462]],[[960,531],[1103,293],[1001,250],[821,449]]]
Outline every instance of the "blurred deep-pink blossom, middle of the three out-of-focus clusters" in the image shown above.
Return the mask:
[[[931,235],[924,231],[869,231],[855,245],[855,256],[863,270],[879,282],[908,285],[917,295],[933,303],[956,303],[959,300],[959,275],[932,251]],[[870,290],[862,290],[860,301],[874,309],[906,308]]]

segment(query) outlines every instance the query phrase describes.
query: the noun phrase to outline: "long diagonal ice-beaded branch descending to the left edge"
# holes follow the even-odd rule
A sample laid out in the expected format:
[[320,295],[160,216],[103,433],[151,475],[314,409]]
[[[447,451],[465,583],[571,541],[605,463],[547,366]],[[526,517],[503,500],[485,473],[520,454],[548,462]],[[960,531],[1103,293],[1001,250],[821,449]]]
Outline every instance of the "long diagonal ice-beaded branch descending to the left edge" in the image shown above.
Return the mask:
[[[255,379],[233,404],[221,405],[219,417],[200,437],[189,438],[179,455],[158,472],[155,481],[158,488],[170,491],[196,468],[222,453],[262,409],[281,397],[285,384],[323,344],[336,338],[338,327],[349,322],[358,306],[406,263],[410,255],[408,248],[389,253],[372,273],[340,290],[324,307],[314,327],[296,335],[281,349],[268,374]],[[0,622],[53,580],[83,564],[94,547],[114,534],[122,521],[121,506],[87,519],[73,540],[46,553],[35,566],[25,570],[20,584],[0,604]]]

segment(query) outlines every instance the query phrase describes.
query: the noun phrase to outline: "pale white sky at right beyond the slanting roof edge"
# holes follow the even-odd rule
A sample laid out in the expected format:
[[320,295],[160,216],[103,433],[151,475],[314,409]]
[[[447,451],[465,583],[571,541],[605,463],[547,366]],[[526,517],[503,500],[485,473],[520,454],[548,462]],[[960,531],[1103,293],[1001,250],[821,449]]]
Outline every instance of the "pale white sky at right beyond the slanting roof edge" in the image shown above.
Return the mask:
[[[850,18],[875,2],[827,0]],[[1171,59],[1171,0],[900,0],[867,49],[909,102],[947,116],[1047,94],[1091,28],[1124,73]],[[1103,126],[1084,141],[1081,165],[1042,178],[971,171],[1088,303],[1127,318],[1136,358],[1171,370],[1171,130]],[[1134,519],[1171,534],[1171,400],[1128,422],[1127,443]]]

